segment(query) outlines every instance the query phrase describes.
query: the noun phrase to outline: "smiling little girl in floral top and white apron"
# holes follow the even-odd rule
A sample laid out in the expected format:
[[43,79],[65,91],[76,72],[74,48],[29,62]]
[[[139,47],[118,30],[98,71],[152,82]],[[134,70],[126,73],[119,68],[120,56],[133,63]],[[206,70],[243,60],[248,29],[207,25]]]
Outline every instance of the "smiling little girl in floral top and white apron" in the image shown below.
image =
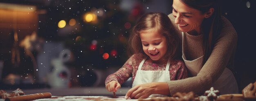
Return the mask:
[[[129,77],[132,77],[132,87],[186,78],[184,63],[175,57],[177,41],[173,28],[171,20],[164,13],[144,14],[130,36],[130,51],[133,55],[121,69],[106,78],[106,89],[117,92]],[[159,96],[162,95],[150,97]]]

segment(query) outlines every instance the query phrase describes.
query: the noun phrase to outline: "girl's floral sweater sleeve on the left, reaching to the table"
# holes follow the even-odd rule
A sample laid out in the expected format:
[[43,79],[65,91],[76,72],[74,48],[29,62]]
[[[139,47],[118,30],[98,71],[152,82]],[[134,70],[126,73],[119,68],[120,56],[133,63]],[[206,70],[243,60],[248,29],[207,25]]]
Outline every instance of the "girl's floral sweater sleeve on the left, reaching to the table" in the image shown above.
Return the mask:
[[112,80],[116,80],[117,82],[119,82],[119,84],[123,84],[124,82],[126,82],[126,80],[128,80],[129,77],[132,76],[134,56],[135,55],[132,55],[118,71],[108,75],[105,80],[105,85],[107,85],[108,82],[111,82]]

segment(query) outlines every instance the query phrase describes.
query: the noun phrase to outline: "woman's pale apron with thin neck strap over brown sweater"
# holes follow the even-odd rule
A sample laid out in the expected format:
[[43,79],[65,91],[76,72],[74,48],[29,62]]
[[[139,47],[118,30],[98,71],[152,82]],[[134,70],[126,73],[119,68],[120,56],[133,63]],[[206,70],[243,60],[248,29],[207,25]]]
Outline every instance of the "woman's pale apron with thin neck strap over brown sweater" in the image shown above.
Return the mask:
[[[182,32],[182,58],[186,64],[187,69],[189,69],[192,76],[196,76],[202,68],[201,63],[203,62],[203,56],[192,61],[186,60],[186,56],[183,50],[184,49],[183,40],[184,40],[184,32]],[[219,90],[221,95],[238,93],[238,86],[236,83],[236,79],[233,73],[228,68],[225,68],[225,70],[220,75],[218,80],[215,83],[213,83],[212,86],[214,89]]]

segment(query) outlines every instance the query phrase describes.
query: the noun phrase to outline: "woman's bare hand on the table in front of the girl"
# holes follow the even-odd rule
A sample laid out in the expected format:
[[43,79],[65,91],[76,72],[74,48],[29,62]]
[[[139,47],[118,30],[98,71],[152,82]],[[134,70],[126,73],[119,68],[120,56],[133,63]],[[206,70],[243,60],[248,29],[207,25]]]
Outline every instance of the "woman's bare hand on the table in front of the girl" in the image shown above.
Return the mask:
[[125,99],[128,99],[129,97],[131,99],[147,98],[150,95],[154,94],[155,88],[156,86],[154,86],[154,84],[152,83],[137,85],[128,90]]

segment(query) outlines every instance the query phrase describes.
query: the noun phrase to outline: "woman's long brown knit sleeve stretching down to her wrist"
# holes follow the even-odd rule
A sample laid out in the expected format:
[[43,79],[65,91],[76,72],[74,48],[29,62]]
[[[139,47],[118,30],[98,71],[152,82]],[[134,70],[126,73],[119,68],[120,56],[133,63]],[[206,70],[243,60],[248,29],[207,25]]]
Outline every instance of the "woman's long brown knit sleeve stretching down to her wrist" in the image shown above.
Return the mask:
[[[175,17],[172,14],[168,16],[172,23],[174,23]],[[222,17],[222,23],[223,26],[214,44],[213,51],[198,75],[183,80],[167,82],[171,95],[176,92],[189,91],[203,94],[220,77],[221,73],[227,67],[229,58],[235,50],[237,42],[237,33],[232,24],[225,17]]]

